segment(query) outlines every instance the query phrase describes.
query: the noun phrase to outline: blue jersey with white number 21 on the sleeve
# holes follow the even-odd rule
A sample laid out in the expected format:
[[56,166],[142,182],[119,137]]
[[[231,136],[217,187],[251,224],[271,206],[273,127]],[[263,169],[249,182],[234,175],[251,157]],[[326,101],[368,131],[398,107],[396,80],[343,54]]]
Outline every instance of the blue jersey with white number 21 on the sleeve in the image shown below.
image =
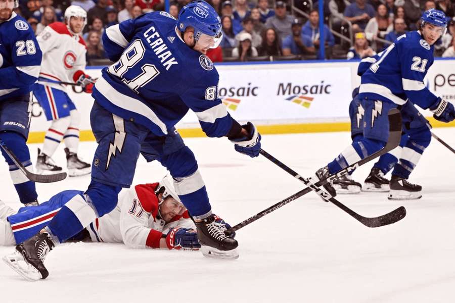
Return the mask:
[[424,77],[434,61],[433,51],[434,47],[419,31],[401,35],[362,74],[359,97],[389,100],[398,105],[409,98],[421,108],[429,108],[437,101],[437,96],[424,84]]

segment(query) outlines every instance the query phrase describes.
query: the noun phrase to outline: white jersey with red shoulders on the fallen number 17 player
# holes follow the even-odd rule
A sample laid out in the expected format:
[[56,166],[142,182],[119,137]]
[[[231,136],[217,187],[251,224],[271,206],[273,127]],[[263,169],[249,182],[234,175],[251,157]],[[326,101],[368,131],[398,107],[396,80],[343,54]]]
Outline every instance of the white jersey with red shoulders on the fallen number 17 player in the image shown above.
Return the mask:
[[140,184],[122,192],[117,207],[109,214],[90,223],[86,228],[94,242],[125,243],[132,248],[158,248],[163,234],[170,228],[196,230],[188,211],[167,223],[157,218],[159,184]]

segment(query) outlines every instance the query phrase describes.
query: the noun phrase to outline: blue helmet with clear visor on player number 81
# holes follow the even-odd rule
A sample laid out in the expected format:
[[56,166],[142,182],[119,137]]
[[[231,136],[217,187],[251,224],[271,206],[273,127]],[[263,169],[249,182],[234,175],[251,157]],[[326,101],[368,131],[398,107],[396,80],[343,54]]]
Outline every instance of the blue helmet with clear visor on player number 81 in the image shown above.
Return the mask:
[[221,19],[215,9],[204,0],[197,0],[184,6],[178,13],[177,27],[180,32],[185,32],[189,26],[194,28],[195,42],[203,34],[214,38],[213,47],[218,46],[221,42]]

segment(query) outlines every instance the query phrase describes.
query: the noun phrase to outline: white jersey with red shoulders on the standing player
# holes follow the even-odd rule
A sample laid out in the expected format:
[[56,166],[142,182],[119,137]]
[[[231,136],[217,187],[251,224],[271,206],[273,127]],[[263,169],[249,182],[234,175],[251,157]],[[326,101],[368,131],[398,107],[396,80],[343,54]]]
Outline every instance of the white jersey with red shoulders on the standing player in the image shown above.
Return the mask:
[[[36,39],[42,51],[39,77],[59,82],[75,82],[77,79],[74,78],[74,73],[85,69],[84,39],[70,33],[62,22],[49,24]],[[60,84],[44,81],[38,83],[66,90],[66,87]]]

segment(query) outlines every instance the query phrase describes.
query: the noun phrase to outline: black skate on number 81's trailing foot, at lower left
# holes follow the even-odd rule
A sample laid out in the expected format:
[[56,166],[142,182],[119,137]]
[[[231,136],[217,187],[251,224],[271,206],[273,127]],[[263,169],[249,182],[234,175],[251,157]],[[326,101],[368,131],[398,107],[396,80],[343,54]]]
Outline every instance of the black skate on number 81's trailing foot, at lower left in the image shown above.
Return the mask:
[[[45,279],[49,276],[48,270],[44,267],[44,259],[55,244],[47,232],[38,233],[32,238],[16,246],[16,251],[3,260],[19,275],[29,281]],[[19,262],[25,262],[26,267]]]

